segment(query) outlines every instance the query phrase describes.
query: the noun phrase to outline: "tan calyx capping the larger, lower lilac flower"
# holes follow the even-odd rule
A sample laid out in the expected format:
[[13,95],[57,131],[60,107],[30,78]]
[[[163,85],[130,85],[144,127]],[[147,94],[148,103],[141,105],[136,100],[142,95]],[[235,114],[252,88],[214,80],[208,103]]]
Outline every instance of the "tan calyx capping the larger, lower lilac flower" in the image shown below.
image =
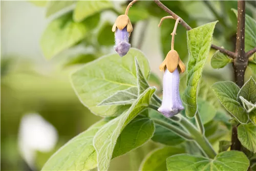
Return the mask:
[[159,66],[159,69],[160,71],[163,71],[163,70],[165,71],[165,69],[167,68],[167,70],[170,73],[173,73],[178,66],[179,66],[180,72],[182,73],[185,72],[186,66],[180,59],[178,52],[176,50],[170,50],[166,55],[164,61]]

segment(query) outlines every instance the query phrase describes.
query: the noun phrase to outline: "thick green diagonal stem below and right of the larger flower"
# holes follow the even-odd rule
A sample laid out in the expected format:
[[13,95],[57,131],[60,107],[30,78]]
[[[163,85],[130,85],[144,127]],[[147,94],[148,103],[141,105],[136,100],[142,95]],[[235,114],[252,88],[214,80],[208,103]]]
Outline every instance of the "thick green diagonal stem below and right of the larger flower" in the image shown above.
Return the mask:
[[209,158],[213,159],[217,155],[207,138],[185,117],[181,118],[180,125],[193,136],[193,139],[201,148],[202,152],[205,153]]

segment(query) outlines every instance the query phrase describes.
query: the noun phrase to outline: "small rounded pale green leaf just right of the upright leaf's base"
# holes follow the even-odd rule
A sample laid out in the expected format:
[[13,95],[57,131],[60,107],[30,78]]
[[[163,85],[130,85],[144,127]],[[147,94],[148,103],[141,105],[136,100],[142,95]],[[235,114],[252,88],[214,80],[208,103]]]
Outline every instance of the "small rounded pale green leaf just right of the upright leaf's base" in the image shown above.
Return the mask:
[[216,109],[208,101],[198,98],[198,113],[201,116],[203,124],[205,124],[215,117]]

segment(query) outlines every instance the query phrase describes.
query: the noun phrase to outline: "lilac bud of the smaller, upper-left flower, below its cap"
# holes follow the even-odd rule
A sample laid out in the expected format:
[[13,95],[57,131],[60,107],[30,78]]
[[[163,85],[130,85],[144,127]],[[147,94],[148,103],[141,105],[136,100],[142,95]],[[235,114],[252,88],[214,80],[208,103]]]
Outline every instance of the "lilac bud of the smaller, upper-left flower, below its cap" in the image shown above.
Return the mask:
[[127,32],[126,27],[122,30],[116,29],[116,45],[114,46],[114,49],[121,57],[126,55],[131,47],[131,45],[129,44],[129,35],[130,33]]

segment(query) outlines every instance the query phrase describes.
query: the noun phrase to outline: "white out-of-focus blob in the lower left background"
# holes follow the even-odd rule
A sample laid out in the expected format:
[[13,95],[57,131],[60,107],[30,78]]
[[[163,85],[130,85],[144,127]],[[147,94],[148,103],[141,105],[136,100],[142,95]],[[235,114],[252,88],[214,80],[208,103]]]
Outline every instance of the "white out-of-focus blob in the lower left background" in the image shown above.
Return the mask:
[[36,152],[51,152],[58,140],[55,127],[38,114],[23,116],[19,125],[18,147],[31,168],[35,168]]

